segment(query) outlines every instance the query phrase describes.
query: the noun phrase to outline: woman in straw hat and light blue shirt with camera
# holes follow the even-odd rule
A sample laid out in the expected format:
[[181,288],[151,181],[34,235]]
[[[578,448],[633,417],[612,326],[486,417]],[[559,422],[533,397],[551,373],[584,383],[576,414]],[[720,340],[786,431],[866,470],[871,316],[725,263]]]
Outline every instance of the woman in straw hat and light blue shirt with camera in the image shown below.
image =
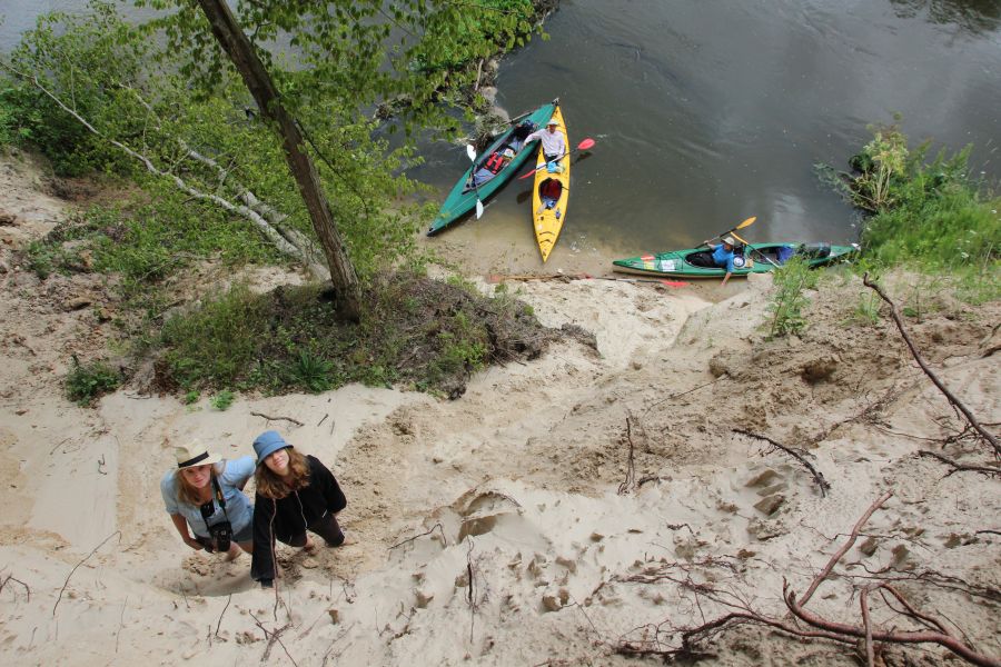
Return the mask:
[[160,492],[181,540],[192,549],[225,552],[228,560],[240,549],[251,552],[254,508],[242,488],[254,475],[254,457],[227,461],[197,440],[175,454],[177,469],[163,475]]

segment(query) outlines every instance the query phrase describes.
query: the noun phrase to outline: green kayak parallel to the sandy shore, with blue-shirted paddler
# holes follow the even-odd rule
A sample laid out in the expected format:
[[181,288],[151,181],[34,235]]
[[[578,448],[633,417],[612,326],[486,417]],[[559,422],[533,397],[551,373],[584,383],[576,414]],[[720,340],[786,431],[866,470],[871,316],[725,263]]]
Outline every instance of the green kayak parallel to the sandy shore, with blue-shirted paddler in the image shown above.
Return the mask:
[[[806,259],[811,267],[838,261],[859,249],[858,246],[831,243],[751,243],[736,250],[733,277],[765,273],[793,256]],[[747,260],[751,261],[747,261]],[[670,252],[647,253],[612,262],[615,271],[677,278],[722,278],[725,271],[713,263],[713,253],[705,248],[688,248]],[[743,266],[741,266],[743,265]]]

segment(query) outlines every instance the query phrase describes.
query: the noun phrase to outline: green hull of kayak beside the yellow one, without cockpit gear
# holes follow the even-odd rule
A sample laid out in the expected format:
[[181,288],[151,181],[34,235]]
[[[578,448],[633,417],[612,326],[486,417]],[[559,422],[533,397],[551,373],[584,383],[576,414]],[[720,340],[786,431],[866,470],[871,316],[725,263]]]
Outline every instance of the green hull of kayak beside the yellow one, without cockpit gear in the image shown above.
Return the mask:
[[[556,103],[557,100],[553,100],[552,102],[543,104],[535,111],[532,111],[524,118],[519,119],[519,122],[528,119],[535,122],[536,126],[542,127],[543,123],[549,120],[549,117],[553,116],[553,111],[554,109],[556,109]],[[486,150],[477,156],[475,163],[469,165],[469,168],[466,169],[466,172],[463,173],[462,178],[458,179],[458,181],[448,192],[448,196],[445,198],[444,203],[442,203],[442,208],[438,210],[438,215],[435,216],[435,219],[432,221],[430,227],[427,230],[427,236],[434,236],[438,233],[443,229],[449,227],[450,225],[457,222],[459,219],[466,216],[469,211],[476,208],[477,198],[480,201],[486,201],[489,197],[497,192],[497,190],[504,187],[504,185],[509,181],[513,176],[521,171],[522,166],[524,166],[529,158],[533,158],[535,156],[535,147],[538,143],[537,141],[533,141],[526,146],[523,146],[521,150],[518,150],[517,155],[512,158],[511,162],[508,162],[489,181],[476,188],[468,187],[468,183],[470,182],[470,179],[473,177],[473,172],[477,171],[484,166],[484,162],[490,156],[490,153],[509,142],[516,127],[517,123],[512,123],[511,128],[508,128],[507,131],[497,137]]]

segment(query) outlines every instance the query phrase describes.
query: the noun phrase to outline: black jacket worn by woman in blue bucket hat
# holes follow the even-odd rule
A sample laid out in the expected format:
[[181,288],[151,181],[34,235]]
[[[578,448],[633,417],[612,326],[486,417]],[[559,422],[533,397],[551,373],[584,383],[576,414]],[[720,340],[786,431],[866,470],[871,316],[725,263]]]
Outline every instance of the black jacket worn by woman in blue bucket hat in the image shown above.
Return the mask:
[[[254,557],[250,576],[257,580],[275,578],[275,539],[288,544],[317,519],[347,507],[344,491],[334,475],[314,456],[309,464],[309,486],[280,500],[254,498]],[[305,524],[303,520],[305,519]]]

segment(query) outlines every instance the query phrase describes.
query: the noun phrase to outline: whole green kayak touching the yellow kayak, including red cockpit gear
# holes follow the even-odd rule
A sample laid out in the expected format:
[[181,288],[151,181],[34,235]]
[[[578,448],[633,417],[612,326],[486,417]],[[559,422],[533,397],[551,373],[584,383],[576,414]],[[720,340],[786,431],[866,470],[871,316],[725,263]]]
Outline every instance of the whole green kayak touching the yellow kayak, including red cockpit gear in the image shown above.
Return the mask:
[[513,123],[509,130],[497,137],[489,148],[476,157],[476,161],[466,169],[445,198],[445,203],[427,230],[427,236],[438,233],[472,211],[476,208],[477,198],[485,201],[521,170],[525,160],[535,156],[538,141],[525,145],[522,139],[543,127],[558,103],[557,98],[526,113],[519,122]]

